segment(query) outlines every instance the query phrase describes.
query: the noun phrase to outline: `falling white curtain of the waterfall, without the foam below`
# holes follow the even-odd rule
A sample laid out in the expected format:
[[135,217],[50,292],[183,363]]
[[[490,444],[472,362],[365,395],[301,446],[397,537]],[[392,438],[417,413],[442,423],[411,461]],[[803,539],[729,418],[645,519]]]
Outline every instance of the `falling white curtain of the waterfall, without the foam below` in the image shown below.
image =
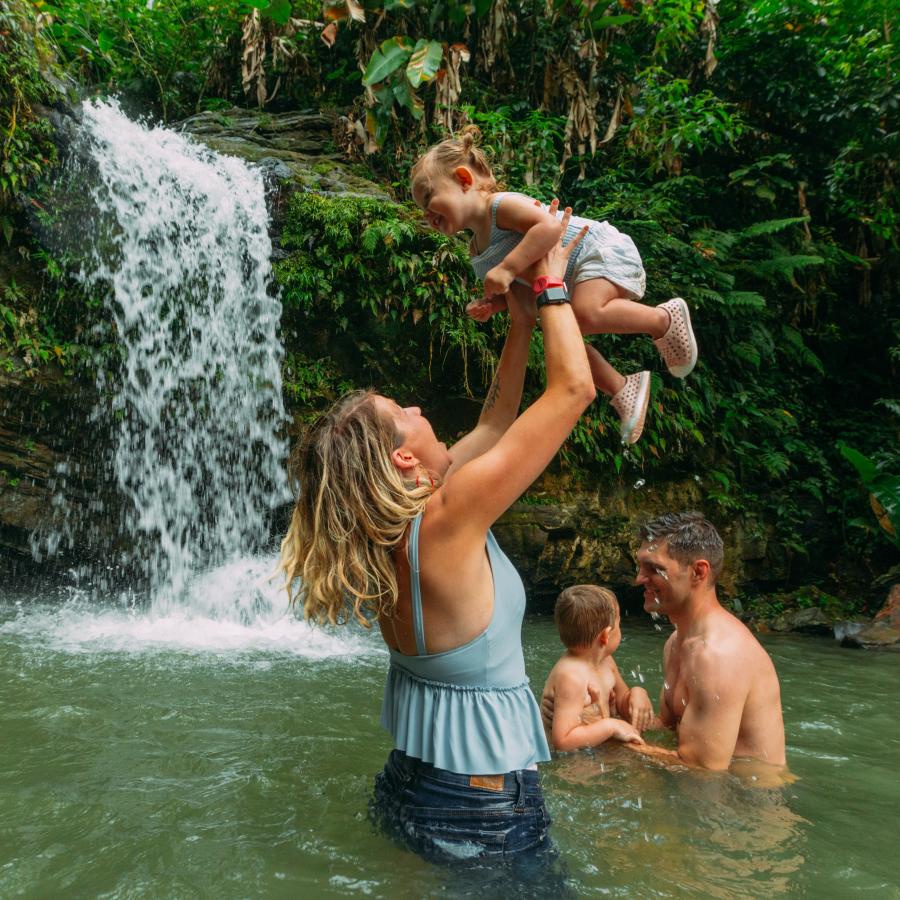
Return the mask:
[[122,355],[114,383],[101,379],[114,398],[111,475],[166,606],[199,573],[257,550],[289,499],[264,185],[114,102],[83,111],[102,225],[80,280],[107,298]]

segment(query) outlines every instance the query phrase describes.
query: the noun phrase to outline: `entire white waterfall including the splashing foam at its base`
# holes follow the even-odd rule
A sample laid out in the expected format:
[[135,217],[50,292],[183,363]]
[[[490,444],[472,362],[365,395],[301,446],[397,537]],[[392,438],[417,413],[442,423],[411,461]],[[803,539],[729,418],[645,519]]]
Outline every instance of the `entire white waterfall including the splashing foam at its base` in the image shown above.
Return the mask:
[[[82,140],[102,224],[85,228],[80,277],[108,297],[122,349],[120,379],[100,387],[114,396],[112,477],[150,603],[96,604],[114,598],[92,572],[61,605],[17,603],[0,630],[75,652],[383,653],[371,632],[298,621],[272,578],[277,558],[256,555],[271,509],[290,499],[260,173],[114,102],[84,105]],[[33,552],[71,534],[63,518]]]

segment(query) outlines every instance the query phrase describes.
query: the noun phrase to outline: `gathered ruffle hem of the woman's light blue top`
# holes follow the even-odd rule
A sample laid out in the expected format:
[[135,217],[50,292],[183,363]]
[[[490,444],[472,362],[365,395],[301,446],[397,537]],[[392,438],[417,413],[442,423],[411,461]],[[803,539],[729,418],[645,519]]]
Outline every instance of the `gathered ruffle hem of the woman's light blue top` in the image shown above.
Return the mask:
[[381,724],[407,756],[462,775],[527,769],[550,759],[528,682],[488,688],[388,671]]

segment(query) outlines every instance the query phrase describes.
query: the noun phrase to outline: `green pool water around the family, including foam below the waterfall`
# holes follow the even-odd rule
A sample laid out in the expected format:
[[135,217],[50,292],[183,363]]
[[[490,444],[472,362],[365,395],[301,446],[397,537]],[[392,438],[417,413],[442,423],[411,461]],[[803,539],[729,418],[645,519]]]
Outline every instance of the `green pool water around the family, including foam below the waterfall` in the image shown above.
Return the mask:
[[[655,698],[668,629],[623,625],[620,668]],[[528,620],[524,642],[539,690],[552,622]],[[765,646],[797,782],[760,790],[615,746],[555,759],[575,895],[900,897],[900,658]],[[472,895],[367,822],[386,663],[359,630],[0,595],[0,897]]]

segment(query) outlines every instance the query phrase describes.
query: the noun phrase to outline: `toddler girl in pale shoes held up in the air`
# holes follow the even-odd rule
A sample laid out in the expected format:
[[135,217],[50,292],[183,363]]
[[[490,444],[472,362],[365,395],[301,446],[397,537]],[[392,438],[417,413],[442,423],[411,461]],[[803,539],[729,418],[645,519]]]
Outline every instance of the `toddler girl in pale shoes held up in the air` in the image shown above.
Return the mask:
[[[479,132],[464,129],[458,139],[441,141],[412,169],[412,193],[428,223],[442,234],[472,232],[472,268],[484,282],[485,299],[469,305],[481,321],[506,304],[514,283],[530,286],[527,270],[560,238],[562,225],[547,208],[523,194],[501,192]],[[697,343],[687,304],[680,297],[659,306],[637,303],[645,274],[634,242],[608,222],[572,216],[564,243],[587,226],[566,270],[572,308],[582,334],[649,334],[669,371],[684,378],[697,362]],[[611,398],[621,420],[622,441],[641,436],[650,399],[650,373],[627,377],[588,345],[594,384]]]

